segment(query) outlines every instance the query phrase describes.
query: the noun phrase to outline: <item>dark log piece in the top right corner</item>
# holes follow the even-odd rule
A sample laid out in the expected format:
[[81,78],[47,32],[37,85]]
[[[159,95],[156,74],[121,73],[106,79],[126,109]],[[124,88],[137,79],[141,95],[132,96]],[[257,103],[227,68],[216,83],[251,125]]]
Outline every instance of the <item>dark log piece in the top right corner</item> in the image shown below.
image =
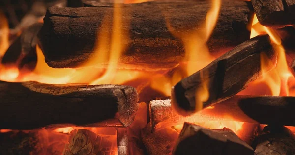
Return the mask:
[[258,21],[267,27],[283,28],[295,24],[294,0],[251,0]]

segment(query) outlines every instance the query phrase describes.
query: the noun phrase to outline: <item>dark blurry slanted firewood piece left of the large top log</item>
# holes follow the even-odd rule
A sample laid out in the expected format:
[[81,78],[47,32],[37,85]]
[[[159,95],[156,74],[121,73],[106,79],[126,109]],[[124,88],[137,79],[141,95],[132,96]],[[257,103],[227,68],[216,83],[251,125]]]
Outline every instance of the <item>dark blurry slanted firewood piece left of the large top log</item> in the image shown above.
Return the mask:
[[37,61],[36,45],[39,41],[37,34],[42,26],[42,23],[36,23],[26,28],[7,49],[1,63],[22,68],[23,65],[32,62],[30,68],[33,69]]

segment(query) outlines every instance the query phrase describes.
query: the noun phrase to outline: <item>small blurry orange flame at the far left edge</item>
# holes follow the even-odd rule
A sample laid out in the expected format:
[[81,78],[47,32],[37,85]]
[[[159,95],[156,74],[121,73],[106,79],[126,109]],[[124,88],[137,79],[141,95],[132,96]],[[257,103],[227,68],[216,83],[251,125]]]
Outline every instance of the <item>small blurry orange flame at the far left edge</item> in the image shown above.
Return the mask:
[[9,47],[9,26],[5,15],[0,11],[0,58]]

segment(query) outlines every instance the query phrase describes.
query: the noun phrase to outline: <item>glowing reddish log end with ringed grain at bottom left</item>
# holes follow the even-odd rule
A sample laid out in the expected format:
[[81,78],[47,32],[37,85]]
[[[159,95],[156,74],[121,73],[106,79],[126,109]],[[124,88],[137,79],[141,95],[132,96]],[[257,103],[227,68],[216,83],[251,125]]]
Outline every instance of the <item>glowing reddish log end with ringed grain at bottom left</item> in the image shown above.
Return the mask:
[[75,129],[70,132],[62,155],[115,155],[116,138],[113,139],[87,129]]

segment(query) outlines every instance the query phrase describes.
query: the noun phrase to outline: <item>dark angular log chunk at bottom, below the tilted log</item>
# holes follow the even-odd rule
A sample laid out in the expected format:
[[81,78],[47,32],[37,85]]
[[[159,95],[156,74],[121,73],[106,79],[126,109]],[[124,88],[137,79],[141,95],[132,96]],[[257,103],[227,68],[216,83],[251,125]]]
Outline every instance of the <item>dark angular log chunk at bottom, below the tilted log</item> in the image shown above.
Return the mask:
[[253,155],[254,150],[230,129],[206,129],[184,123],[173,155]]

